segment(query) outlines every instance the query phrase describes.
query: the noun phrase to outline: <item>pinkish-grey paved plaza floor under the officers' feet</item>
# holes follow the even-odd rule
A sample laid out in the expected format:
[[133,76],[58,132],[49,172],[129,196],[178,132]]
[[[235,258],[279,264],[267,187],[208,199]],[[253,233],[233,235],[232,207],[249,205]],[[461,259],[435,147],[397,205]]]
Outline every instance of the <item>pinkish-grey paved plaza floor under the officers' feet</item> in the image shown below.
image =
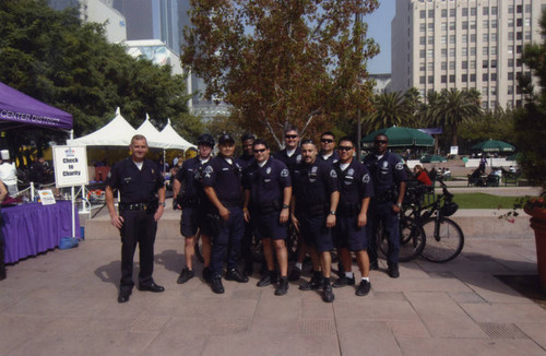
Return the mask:
[[276,297],[258,274],[224,282],[224,295],[199,277],[178,285],[181,251],[181,237],[158,239],[154,277],[166,292],[135,289],[123,305],[119,239],[10,265],[0,355],[546,355],[546,310],[496,277],[536,273],[533,238],[471,237],[454,261],[402,263],[397,280],[381,260],[368,296],[348,286],[333,304],[297,284]]

